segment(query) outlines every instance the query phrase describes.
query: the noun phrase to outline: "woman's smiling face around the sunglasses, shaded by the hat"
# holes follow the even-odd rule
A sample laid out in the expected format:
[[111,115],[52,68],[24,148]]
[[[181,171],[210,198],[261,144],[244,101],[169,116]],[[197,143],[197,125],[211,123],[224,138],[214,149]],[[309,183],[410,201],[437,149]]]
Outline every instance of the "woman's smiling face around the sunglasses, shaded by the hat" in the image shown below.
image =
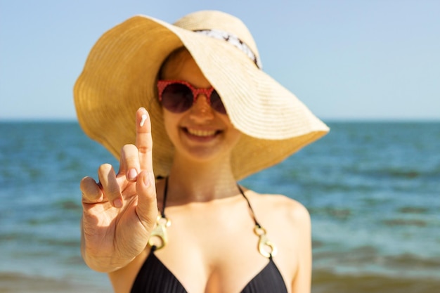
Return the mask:
[[[211,86],[186,50],[167,60],[161,79],[185,81],[199,89]],[[162,110],[165,129],[176,148],[176,155],[198,161],[224,158],[231,155],[240,138],[240,131],[231,124],[228,115],[212,109],[203,94],[185,112],[170,112],[163,107]]]

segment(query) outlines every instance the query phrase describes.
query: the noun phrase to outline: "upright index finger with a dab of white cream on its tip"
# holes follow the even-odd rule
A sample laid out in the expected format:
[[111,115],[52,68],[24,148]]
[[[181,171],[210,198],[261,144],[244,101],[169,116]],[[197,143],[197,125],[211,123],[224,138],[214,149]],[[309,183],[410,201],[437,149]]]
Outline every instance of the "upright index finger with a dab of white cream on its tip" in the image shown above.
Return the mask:
[[145,108],[136,112],[136,148],[139,151],[141,170],[153,172],[153,138],[151,137],[151,121]]

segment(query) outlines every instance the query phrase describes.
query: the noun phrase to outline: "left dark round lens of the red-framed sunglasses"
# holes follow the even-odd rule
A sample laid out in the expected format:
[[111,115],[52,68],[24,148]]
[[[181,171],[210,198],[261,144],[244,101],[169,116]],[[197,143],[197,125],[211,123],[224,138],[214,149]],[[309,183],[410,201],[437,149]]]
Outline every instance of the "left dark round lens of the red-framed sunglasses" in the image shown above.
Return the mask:
[[185,84],[169,84],[162,92],[162,106],[170,112],[185,112],[193,105],[193,92]]

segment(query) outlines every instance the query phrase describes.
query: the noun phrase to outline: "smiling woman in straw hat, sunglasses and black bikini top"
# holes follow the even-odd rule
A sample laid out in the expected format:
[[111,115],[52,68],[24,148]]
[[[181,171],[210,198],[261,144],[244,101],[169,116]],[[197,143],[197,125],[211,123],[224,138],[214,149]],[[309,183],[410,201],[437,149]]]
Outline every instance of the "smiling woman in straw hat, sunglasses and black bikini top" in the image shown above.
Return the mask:
[[237,181],[328,127],[261,70],[240,20],[130,18],[93,47],[75,105],[120,160],[81,182],[82,254],[115,292],[310,292],[308,212]]

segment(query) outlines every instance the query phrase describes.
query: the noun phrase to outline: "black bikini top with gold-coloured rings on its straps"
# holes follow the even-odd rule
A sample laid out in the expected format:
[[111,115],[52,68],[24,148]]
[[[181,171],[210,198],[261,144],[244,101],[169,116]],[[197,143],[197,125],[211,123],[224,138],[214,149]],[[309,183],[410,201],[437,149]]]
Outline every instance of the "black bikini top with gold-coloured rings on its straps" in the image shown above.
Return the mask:
[[[167,243],[166,227],[169,226],[169,221],[164,214],[165,202],[167,200],[167,178],[165,179],[164,190],[164,204],[162,207],[162,213],[157,219],[157,225],[152,235],[160,237],[162,245],[156,247],[151,245],[150,254],[143,263],[143,266],[138,272],[136,279],[134,280],[133,287],[131,287],[131,293],[188,293],[173,275],[169,269],[164,266],[160,259],[155,256],[155,250],[162,248]],[[257,219],[255,219],[254,211],[250,205],[250,201],[243,193],[242,188],[238,185],[238,189],[247,204],[252,211],[252,217],[255,222],[254,233],[259,236],[259,252],[268,257],[268,264],[247,283],[247,285],[240,291],[240,293],[287,293],[283,276],[278,270],[276,264],[273,262],[272,256],[276,253],[276,247],[266,237],[266,230],[262,228]],[[271,252],[267,252],[264,248],[268,246],[271,248]]]

